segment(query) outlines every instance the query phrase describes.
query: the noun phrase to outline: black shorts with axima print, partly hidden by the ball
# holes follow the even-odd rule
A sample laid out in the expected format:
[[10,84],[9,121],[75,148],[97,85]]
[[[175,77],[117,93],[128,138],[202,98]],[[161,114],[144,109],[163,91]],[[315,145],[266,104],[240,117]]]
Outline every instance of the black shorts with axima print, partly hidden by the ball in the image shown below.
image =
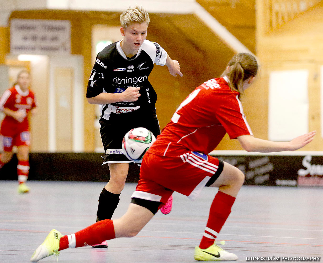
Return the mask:
[[[124,135],[133,128],[144,127],[150,130],[155,137],[161,133],[156,110],[135,110],[134,112],[122,113],[118,116],[118,122],[99,120],[100,134],[104,147],[104,162],[106,163],[133,163],[122,150]],[[102,164],[102,165],[103,165]]]

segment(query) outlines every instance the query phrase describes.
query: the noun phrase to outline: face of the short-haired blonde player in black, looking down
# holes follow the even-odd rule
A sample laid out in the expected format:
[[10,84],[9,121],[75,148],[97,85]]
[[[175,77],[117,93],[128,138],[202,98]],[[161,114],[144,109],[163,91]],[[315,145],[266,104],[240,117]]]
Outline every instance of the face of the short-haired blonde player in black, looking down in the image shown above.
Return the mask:
[[147,28],[148,25],[146,23],[131,23],[126,29],[121,28],[123,45],[127,49],[138,51],[147,37]]

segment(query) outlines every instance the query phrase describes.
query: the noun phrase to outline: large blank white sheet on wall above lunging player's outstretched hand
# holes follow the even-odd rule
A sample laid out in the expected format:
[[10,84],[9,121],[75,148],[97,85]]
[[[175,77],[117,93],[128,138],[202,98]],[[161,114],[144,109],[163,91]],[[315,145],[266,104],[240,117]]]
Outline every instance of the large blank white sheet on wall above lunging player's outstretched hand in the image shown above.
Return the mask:
[[272,71],[269,77],[268,138],[290,141],[308,132],[308,70]]

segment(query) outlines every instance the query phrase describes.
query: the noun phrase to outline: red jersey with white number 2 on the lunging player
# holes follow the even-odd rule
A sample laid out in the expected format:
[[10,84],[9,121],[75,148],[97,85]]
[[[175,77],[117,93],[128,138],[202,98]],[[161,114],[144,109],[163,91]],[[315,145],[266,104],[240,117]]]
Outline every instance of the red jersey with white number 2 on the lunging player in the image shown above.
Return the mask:
[[227,77],[204,82],[181,103],[148,152],[163,156],[178,156],[187,150],[208,154],[225,133],[230,139],[253,135],[238,95],[228,86]]

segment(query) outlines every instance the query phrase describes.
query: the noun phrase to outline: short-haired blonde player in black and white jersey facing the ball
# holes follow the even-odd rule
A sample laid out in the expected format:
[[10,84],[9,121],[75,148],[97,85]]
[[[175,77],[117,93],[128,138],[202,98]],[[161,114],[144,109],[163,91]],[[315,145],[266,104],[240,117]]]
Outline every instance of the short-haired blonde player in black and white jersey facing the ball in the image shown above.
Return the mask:
[[[120,16],[123,39],[97,55],[89,78],[89,103],[101,104],[100,134],[109,165],[110,180],[99,197],[97,221],[111,219],[119,203],[131,161],[122,150],[123,136],[132,128],[145,127],[160,134],[155,103],[157,95],[148,76],[156,65],[167,65],[170,74],[180,75],[180,65],[157,43],[146,40],[149,15],[142,7],[128,8]],[[172,197],[161,212],[172,208]],[[104,241],[94,247],[108,247]]]

